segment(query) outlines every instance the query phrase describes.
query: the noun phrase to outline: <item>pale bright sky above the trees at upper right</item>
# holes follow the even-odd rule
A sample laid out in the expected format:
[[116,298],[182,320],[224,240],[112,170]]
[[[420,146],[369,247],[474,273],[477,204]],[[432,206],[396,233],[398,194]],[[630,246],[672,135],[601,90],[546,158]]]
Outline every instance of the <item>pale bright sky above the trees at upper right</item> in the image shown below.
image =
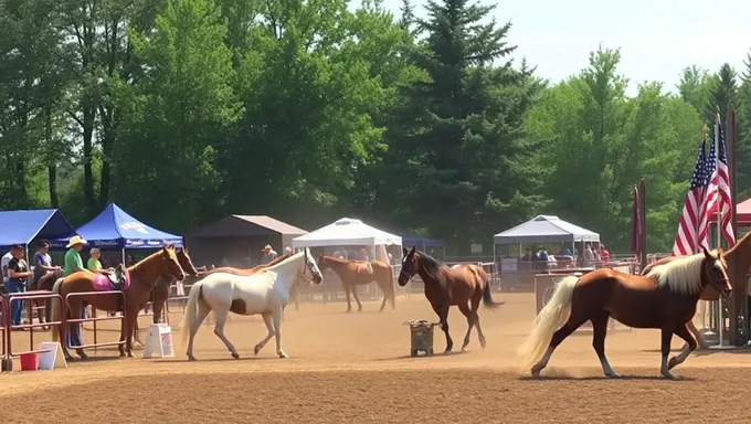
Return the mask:
[[[424,17],[423,2],[413,0],[419,17]],[[621,49],[620,73],[630,78],[630,95],[645,81],[677,92],[685,67],[716,72],[728,62],[740,73],[751,47],[748,0],[482,2],[497,4],[493,13],[499,24],[511,21],[509,43],[518,46],[517,61],[527,57],[539,76],[553,83],[586,67],[590,52],[601,44]],[[384,6],[399,15],[401,0],[384,0]]]

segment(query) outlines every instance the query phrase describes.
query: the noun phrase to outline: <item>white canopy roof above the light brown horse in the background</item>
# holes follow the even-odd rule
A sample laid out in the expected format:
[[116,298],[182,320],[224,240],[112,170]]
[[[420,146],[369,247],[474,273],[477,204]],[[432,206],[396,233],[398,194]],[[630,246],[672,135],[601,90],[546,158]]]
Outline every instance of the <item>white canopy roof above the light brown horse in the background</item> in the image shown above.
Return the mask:
[[342,218],[292,240],[293,248],[325,246],[402,245],[402,237],[372,227],[360,220]]

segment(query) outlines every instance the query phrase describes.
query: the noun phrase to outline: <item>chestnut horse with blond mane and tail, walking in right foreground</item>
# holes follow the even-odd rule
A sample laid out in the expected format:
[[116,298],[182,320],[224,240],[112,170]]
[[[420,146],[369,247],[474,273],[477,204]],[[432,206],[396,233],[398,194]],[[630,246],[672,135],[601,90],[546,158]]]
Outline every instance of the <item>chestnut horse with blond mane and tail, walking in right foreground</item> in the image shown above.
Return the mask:
[[[674,379],[670,369],[684,362],[696,349],[696,339],[686,322],[694,317],[699,296],[708,285],[724,295],[732,290],[722,250],[681,257],[653,268],[646,277],[607,268],[582,277],[564,277],[538,314],[535,328],[519,351],[525,360],[523,367],[531,365],[532,377],[539,377],[556,348],[582,324],[591,320],[592,347],[603,373],[611,378],[620,377],[605,358],[607,320],[613,317],[628,327],[662,329],[660,372],[665,378]],[[688,347],[668,362],[674,333]]]

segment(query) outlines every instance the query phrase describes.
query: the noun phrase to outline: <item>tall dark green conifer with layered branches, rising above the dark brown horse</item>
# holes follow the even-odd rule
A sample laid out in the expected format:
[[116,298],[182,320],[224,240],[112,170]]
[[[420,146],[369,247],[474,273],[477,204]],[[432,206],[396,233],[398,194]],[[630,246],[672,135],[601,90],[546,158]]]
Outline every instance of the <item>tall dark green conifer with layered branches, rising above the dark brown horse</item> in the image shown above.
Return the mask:
[[385,190],[400,198],[395,215],[462,251],[542,203],[531,194],[539,181],[522,130],[538,87],[507,59],[510,23],[483,23],[493,10],[429,2],[429,19],[417,21],[426,39],[411,54],[425,76],[402,89],[389,128]]

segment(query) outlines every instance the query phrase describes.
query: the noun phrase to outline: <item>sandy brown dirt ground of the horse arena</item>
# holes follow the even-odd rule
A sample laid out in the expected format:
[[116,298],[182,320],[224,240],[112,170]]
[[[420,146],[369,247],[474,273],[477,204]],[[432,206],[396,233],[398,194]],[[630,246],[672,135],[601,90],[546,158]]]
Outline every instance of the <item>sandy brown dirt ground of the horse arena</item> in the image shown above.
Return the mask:
[[[235,316],[226,335],[240,360],[204,327],[197,337],[198,362],[186,361],[176,330],[172,359],[117,359],[103,349],[67,369],[0,375],[0,423],[751,422],[745,351],[699,352],[676,369],[680,380],[666,381],[658,372],[658,331],[616,327],[606,348],[626,378],[609,380],[591,332],[580,330],[556,352],[546,378],[530,380],[517,371],[515,357],[535,315],[533,297],[495,297],[506,305],[480,309],[485,351],[473,332],[467,353],[410,358],[402,320],[435,319],[422,295],[400,298],[395,310],[382,314],[377,303],[364,303],[360,314],[345,314],[341,303],[302,304],[300,311],[288,308],[283,324],[289,359],[276,358],[273,340],[253,357],[265,327],[260,318]],[[180,317],[173,315],[172,324]],[[461,347],[466,321],[458,310],[452,309],[449,324]],[[28,335],[13,337],[20,343]],[[91,341],[92,332],[84,337]],[[675,340],[674,348],[679,346]],[[445,347],[440,329],[435,347]]]

